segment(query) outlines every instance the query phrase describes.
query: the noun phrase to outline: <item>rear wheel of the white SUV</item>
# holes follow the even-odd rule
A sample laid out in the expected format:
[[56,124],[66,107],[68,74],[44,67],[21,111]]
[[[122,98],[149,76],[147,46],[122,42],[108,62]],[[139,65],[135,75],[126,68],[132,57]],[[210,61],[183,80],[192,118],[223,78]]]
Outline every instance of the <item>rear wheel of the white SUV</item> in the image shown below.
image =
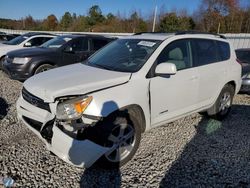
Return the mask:
[[231,111],[234,97],[234,87],[227,84],[223,87],[215,104],[208,110],[208,115],[217,120],[223,120]]

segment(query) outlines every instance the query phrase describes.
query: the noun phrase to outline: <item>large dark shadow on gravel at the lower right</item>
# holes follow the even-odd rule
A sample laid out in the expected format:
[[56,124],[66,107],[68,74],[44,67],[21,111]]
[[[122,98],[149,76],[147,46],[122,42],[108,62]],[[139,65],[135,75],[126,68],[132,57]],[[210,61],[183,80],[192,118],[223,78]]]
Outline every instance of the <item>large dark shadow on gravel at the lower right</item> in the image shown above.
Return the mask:
[[250,106],[223,121],[203,117],[160,187],[250,187]]

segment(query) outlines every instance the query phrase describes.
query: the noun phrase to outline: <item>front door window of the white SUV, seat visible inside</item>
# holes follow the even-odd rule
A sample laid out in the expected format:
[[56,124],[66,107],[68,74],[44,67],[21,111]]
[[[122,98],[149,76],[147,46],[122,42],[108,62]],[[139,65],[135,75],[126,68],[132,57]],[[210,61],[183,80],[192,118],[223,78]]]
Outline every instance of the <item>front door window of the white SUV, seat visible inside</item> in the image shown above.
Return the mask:
[[157,64],[160,63],[173,63],[177,70],[191,68],[193,63],[190,42],[184,39],[170,43],[157,58]]

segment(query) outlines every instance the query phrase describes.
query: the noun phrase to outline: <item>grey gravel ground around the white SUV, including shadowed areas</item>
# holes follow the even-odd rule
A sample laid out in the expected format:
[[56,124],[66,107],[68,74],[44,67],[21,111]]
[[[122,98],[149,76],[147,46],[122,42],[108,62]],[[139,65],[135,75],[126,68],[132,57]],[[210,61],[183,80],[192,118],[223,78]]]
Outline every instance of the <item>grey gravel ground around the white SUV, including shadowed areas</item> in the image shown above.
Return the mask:
[[51,155],[17,121],[21,87],[0,71],[0,177],[15,187],[250,187],[249,95],[237,95],[222,122],[194,114],[144,133],[135,157],[108,171]]

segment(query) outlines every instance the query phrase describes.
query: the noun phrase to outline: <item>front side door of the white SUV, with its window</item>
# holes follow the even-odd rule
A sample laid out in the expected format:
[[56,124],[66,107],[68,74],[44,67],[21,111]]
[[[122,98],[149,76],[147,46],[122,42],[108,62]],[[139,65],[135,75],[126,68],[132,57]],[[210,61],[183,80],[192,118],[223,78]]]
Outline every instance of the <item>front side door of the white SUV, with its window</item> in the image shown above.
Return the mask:
[[150,80],[153,126],[197,108],[199,75],[196,68],[193,68],[192,56],[190,41],[182,39],[167,45],[157,58],[157,64],[174,63],[177,73],[155,76]]

